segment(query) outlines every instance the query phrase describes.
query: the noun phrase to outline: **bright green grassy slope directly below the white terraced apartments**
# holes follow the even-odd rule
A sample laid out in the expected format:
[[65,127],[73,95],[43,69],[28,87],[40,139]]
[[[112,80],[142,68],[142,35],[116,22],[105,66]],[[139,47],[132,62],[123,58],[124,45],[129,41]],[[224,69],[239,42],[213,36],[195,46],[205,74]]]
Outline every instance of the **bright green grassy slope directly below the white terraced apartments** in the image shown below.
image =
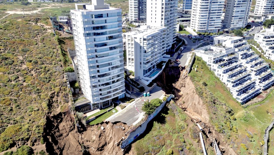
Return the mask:
[[[237,133],[231,134],[230,139],[226,140],[233,141],[237,146],[240,146],[240,143],[244,143],[249,150],[253,150],[255,154],[259,154],[262,151],[259,142],[263,140],[264,130],[270,124],[270,120],[274,114],[274,92],[272,91],[262,102],[257,104],[255,103],[248,108],[243,108],[238,102],[235,101],[230,92],[224,87],[223,83],[215,76],[215,74],[209,71],[204,61],[197,60],[196,57],[193,65],[198,65],[198,71],[191,71],[189,74],[195,84],[195,87],[202,88],[202,82],[205,81],[207,84],[206,88],[209,93],[212,93],[215,98],[225,103],[224,105],[229,106],[234,111],[236,121],[231,121],[231,123],[233,126],[237,126],[238,131]],[[199,90],[196,89],[196,92],[197,91]],[[206,90],[202,89],[202,91]],[[205,92],[202,93],[203,95],[205,94]],[[205,102],[206,96],[202,97],[202,99],[203,102]],[[223,107],[226,107],[224,105]],[[215,106],[218,108],[216,104]],[[212,119],[219,117],[217,114],[221,112],[222,110],[218,109],[218,113],[216,113]],[[222,119],[219,118],[219,123],[221,123],[221,121]],[[246,136],[247,132],[252,133],[252,139],[254,142],[248,140]],[[246,154],[248,152],[240,148],[241,147],[237,147],[233,149],[236,153],[237,151],[240,151],[241,154]]]

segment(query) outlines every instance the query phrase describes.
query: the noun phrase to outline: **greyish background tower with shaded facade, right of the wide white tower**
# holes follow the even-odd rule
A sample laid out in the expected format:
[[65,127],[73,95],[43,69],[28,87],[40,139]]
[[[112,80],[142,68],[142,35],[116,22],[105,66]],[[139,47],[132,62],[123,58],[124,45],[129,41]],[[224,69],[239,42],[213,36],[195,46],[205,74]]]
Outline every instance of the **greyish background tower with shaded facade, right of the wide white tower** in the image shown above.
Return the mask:
[[224,24],[227,28],[237,29],[248,24],[251,0],[229,0],[226,3]]

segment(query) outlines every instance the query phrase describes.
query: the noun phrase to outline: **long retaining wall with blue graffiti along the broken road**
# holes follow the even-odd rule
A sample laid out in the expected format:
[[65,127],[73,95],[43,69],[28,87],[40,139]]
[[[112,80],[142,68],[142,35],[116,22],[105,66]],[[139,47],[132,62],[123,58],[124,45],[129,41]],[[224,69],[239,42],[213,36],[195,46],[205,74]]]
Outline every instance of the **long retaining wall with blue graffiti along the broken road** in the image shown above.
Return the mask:
[[131,129],[129,132],[127,132],[128,137],[121,142],[121,148],[124,149],[126,146],[128,146],[130,143],[132,143],[137,137],[139,137],[145,130],[146,126],[153,119],[161,110],[162,108],[166,105],[166,102],[170,101],[171,98],[174,98],[174,95],[170,95],[167,98],[167,101],[164,101],[156,110],[148,116],[147,120],[142,122],[142,124],[138,127],[134,127]]

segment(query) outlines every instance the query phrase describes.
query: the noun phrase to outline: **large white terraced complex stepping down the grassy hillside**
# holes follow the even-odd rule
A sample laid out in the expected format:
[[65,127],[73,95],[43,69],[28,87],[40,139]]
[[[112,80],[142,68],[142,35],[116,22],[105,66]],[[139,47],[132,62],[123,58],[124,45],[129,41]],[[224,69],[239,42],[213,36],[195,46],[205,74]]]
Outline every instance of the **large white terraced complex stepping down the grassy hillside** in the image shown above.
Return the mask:
[[268,64],[250,49],[242,37],[216,37],[213,46],[197,50],[197,56],[206,61],[211,71],[230,88],[241,104],[274,84]]

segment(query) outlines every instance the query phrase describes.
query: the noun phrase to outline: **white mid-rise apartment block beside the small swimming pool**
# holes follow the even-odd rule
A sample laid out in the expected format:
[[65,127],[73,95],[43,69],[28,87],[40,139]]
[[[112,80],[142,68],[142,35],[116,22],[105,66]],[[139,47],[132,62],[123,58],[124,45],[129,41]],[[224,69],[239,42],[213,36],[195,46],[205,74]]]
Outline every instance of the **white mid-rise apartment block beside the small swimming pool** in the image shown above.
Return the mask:
[[163,56],[167,51],[167,27],[141,26],[126,36],[127,69],[134,71],[135,77],[149,84],[160,74],[166,61]]

